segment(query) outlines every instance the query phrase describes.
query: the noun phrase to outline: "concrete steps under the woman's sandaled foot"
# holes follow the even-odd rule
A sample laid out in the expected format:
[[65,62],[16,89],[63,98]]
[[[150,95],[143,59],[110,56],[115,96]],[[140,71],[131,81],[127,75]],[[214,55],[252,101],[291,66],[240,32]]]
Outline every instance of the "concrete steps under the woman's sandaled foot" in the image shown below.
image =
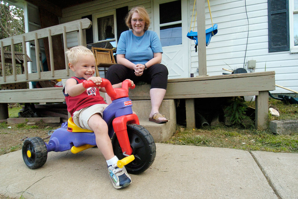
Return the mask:
[[169,120],[164,124],[156,124],[148,120],[151,111],[150,100],[133,100],[132,105],[132,109],[139,117],[140,125],[150,132],[155,142],[167,141],[175,133],[176,106],[173,99],[163,100],[161,106],[159,107],[159,112]]

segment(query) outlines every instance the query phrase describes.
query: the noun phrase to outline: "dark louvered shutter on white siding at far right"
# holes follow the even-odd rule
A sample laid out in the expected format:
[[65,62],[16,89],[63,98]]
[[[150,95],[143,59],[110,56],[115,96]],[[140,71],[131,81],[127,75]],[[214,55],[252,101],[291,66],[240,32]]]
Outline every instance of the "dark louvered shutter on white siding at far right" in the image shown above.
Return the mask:
[[268,0],[268,52],[290,50],[289,1]]

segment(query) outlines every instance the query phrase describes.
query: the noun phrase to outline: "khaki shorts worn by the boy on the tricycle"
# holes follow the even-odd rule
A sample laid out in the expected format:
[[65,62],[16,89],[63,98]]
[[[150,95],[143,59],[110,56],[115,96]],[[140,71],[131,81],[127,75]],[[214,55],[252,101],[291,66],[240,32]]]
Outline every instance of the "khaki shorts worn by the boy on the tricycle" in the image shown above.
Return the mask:
[[94,104],[92,106],[80,109],[74,112],[72,119],[78,127],[93,131],[88,125],[89,118],[96,113],[99,113],[101,117],[103,117],[103,111],[107,106],[108,104]]

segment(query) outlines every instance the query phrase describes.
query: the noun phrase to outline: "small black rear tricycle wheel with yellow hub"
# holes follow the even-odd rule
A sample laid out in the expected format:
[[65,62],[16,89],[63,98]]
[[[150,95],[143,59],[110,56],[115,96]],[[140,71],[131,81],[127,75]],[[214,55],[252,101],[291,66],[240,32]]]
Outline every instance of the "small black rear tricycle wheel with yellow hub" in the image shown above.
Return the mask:
[[25,164],[30,169],[43,166],[48,158],[48,151],[44,140],[40,137],[26,139],[23,143],[22,155]]

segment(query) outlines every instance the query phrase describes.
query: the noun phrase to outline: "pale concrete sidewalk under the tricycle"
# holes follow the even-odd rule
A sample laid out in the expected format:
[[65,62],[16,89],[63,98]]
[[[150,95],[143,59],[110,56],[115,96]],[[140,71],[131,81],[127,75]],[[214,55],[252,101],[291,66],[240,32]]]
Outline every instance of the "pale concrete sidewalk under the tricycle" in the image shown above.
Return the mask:
[[19,150],[0,156],[0,193],[27,199],[298,198],[297,166],[298,154],[156,143],[152,166],[117,190],[97,148],[50,152],[34,170]]

